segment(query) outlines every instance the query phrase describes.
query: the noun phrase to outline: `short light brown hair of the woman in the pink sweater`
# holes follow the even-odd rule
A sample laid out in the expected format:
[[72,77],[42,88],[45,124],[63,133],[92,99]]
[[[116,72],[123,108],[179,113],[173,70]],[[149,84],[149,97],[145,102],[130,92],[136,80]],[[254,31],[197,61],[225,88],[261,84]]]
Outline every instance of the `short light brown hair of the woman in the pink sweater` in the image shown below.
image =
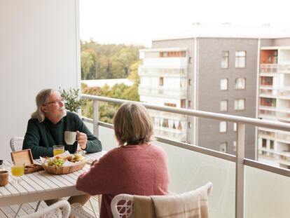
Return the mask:
[[153,139],[153,123],[142,104],[123,103],[113,118],[119,145],[144,144]]

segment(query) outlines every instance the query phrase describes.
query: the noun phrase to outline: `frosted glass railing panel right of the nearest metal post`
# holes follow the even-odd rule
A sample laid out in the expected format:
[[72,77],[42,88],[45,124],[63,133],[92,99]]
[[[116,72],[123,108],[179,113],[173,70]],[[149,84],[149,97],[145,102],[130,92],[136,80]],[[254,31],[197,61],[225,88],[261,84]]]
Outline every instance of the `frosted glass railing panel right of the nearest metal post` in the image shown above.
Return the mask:
[[244,166],[244,217],[289,217],[290,178]]

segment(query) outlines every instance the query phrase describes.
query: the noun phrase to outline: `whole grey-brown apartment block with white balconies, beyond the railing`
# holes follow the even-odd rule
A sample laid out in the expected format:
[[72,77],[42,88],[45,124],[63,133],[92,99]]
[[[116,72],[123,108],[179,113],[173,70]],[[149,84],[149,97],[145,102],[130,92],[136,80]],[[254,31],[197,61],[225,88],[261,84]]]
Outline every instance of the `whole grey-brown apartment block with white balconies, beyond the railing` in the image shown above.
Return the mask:
[[[290,53],[282,50],[283,46],[290,46],[289,39],[273,39],[266,34],[267,28],[264,27],[262,30],[265,34],[261,29],[248,34],[244,28],[239,33],[229,25],[220,27],[221,33],[216,34],[198,25],[195,32],[188,36],[156,39],[152,41],[152,48],[140,50],[140,59],[143,60],[139,67],[140,101],[287,121],[286,108],[290,108],[290,102],[284,96],[279,98],[277,104],[277,96],[272,92],[279,93],[277,86],[281,84],[281,75],[284,75],[284,94],[281,95],[286,95],[285,86],[290,82],[290,76],[288,79],[286,73],[279,74],[279,69],[285,70],[286,60],[290,60]],[[261,34],[265,39],[261,39]],[[279,81],[276,79],[278,74]],[[235,154],[235,123],[157,111],[150,113],[156,135]],[[283,113],[284,119],[277,118]],[[286,145],[285,140],[277,141],[278,136],[282,137],[281,134],[264,129],[257,131],[254,127],[246,126],[245,156],[251,159],[259,156],[260,159],[271,161],[281,152],[290,152],[290,144]],[[284,134],[283,137],[286,139],[288,135]]]

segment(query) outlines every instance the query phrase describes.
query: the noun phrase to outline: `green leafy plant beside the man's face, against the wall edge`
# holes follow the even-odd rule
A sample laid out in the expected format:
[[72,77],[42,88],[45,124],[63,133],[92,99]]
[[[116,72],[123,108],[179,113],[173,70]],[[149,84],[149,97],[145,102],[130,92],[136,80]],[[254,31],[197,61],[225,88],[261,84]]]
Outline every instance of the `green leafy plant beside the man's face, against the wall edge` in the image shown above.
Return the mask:
[[60,95],[66,101],[65,108],[71,112],[77,112],[85,103],[85,99],[78,97],[79,89],[69,88],[69,90],[60,90]]

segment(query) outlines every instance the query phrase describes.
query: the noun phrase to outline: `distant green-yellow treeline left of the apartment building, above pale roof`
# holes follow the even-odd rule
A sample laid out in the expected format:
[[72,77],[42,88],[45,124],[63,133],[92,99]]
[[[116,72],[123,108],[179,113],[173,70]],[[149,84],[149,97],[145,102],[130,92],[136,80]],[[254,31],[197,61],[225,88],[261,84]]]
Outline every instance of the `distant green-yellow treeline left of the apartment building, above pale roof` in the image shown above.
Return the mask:
[[81,42],[81,79],[120,79],[130,75],[143,46]]

